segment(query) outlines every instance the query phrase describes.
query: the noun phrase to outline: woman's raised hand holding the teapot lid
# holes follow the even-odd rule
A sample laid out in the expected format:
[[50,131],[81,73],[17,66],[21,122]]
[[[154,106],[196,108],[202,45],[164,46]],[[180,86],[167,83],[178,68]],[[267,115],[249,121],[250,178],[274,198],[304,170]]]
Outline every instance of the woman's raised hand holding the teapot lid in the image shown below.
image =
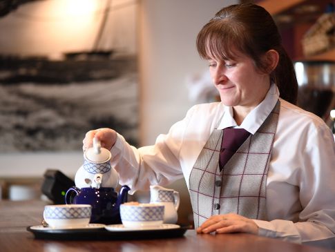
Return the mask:
[[97,139],[101,142],[102,147],[106,148],[107,150],[111,150],[116,142],[117,133],[111,128],[98,128],[96,130],[88,131],[83,140],[84,152],[87,148],[91,148],[93,146],[94,137],[97,137]]

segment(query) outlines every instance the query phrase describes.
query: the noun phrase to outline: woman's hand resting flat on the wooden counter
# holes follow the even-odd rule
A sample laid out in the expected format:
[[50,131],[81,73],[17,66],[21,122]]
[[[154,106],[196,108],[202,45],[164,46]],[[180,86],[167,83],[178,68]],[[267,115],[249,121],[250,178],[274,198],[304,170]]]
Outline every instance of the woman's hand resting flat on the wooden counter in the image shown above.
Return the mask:
[[197,229],[197,233],[252,233],[258,234],[258,226],[253,220],[229,213],[225,215],[213,215],[209,217]]

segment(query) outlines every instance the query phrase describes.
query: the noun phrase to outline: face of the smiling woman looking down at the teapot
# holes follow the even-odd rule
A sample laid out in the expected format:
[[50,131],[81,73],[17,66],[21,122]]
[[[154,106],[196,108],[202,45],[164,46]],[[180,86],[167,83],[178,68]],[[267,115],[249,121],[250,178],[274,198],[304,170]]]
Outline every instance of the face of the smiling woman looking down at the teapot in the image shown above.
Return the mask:
[[255,108],[270,87],[269,75],[260,72],[253,60],[238,54],[234,60],[209,59],[209,72],[226,106]]

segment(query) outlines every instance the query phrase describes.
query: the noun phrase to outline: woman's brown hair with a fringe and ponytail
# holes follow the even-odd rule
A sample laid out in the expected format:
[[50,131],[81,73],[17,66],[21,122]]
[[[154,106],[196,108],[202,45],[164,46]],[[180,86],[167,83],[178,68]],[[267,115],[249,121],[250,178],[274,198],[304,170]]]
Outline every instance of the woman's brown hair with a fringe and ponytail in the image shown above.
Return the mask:
[[249,56],[259,70],[267,72],[262,60],[268,50],[279,54],[278,66],[270,73],[278,86],[280,97],[296,104],[298,83],[291,59],[282,46],[276,23],[264,8],[253,3],[241,3],[222,8],[200,30],[197,37],[200,57],[213,55],[220,60],[234,59],[235,48]]

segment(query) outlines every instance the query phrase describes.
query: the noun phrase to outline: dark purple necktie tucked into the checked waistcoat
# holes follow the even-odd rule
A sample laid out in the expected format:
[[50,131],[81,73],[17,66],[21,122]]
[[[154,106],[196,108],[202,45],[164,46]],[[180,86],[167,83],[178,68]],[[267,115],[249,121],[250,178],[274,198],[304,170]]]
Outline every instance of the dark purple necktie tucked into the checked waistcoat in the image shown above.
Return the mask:
[[247,140],[249,135],[251,133],[244,128],[224,128],[220,150],[220,171],[222,171],[238,148]]

